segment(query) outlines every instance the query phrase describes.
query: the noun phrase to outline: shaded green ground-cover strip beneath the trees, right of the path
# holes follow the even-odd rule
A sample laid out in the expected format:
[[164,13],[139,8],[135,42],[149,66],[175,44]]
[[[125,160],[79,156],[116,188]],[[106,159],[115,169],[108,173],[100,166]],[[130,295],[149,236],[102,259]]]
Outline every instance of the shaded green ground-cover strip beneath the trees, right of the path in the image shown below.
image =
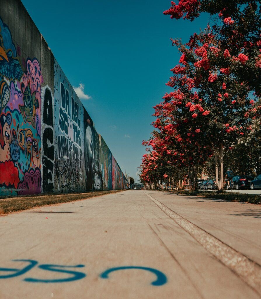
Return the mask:
[[[172,192],[172,191],[168,191]],[[260,205],[261,204],[261,195],[256,194],[245,194],[245,193],[234,193],[234,192],[220,192],[220,191],[189,191],[189,190],[180,190],[173,191],[173,193],[180,195],[190,195],[190,196],[201,196],[208,198],[223,199],[227,201],[235,202],[248,202],[250,204]]]

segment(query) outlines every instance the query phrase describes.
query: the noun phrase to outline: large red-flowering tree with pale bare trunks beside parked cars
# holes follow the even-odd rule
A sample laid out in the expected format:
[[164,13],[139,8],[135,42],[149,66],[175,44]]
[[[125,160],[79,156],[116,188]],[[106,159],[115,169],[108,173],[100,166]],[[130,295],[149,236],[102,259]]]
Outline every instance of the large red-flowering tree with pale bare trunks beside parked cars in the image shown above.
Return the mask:
[[228,51],[219,55],[222,52],[220,42],[209,26],[200,34],[194,34],[186,45],[180,40],[172,42],[182,54],[179,64],[171,70],[173,77],[167,83],[176,91],[166,94],[165,102],[156,106],[155,116],[161,117],[154,126],[169,123],[178,138],[186,140],[184,134],[192,133],[194,136],[188,137],[193,136],[203,149],[209,144],[215,157],[216,181],[220,182],[218,187],[221,190],[223,151],[251,130],[248,113],[256,97],[248,97],[250,87],[238,81],[229,68],[219,67],[220,61],[228,58]]

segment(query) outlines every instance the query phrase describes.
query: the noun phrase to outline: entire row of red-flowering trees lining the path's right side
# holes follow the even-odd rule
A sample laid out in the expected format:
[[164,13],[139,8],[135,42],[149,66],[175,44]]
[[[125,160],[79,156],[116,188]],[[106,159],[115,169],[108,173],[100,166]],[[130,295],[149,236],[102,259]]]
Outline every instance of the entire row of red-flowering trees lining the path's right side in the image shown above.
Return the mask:
[[[155,131],[144,142],[152,150],[147,149],[141,165],[145,184],[183,173],[195,189],[199,170],[212,159],[222,190],[224,155],[231,156],[246,136],[253,137],[253,127],[260,135],[260,4],[181,0],[164,14],[193,21],[201,12],[216,14],[219,25],[207,25],[186,44],[172,39],[181,57],[166,85],[175,90],[154,107]],[[244,148],[240,153],[245,154]],[[252,173],[260,168],[257,160]]]

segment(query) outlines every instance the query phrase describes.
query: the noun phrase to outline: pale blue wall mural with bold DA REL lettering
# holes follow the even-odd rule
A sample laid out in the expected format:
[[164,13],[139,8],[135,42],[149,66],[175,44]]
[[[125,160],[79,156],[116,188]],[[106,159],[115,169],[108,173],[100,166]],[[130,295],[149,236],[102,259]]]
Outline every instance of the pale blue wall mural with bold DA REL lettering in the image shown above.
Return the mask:
[[54,60],[54,190],[85,190],[83,104]]

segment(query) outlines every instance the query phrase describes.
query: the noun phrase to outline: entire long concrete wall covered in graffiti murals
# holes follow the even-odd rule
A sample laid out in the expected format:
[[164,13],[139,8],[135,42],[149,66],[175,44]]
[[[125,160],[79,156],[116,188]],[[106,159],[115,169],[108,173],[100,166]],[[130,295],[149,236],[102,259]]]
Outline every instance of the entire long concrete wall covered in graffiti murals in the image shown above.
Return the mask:
[[0,0],[0,196],[128,188],[20,0]]

